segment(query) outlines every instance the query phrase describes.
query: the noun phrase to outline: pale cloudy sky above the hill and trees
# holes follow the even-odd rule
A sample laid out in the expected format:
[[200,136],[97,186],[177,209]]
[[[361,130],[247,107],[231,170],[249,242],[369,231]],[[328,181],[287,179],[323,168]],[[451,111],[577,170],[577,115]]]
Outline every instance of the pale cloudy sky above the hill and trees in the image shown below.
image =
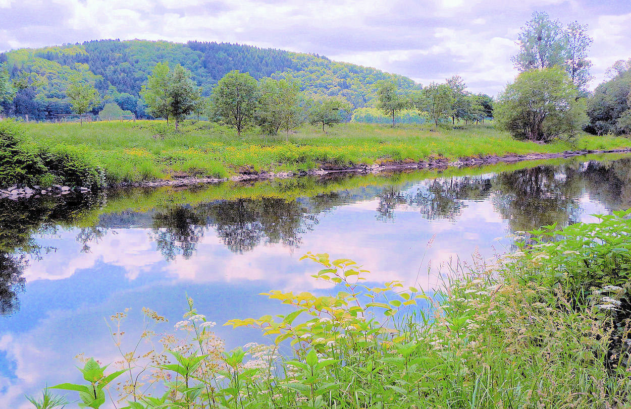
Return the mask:
[[0,50],[100,38],[238,42],[313,52],[495,95],[533,11],[589,25],[595,86],[631,57],[628,0],[0,0]]

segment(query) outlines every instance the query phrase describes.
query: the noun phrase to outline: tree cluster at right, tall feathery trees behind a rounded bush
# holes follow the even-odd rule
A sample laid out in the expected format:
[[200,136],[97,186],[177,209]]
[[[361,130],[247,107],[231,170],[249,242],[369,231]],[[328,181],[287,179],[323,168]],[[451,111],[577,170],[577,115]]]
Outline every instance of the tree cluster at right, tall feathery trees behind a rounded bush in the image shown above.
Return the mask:
[[548,142],[593,134],[631,135],[631,59],[617,61],[613,77],[594,93],[588,59],[592,38],[587,25],[563,26],[547,13],[535,12],[519,33],[512,60],[520,71],[497,97],[497,124],[518,139]]

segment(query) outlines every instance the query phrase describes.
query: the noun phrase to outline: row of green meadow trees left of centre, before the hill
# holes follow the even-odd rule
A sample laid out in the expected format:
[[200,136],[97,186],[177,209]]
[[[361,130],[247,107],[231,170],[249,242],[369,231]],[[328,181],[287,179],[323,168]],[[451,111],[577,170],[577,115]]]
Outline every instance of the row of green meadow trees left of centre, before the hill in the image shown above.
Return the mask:
[[209,97],[201,96],[191,73],[167,62],[156,64],[141,96],[148,112],[156,118],[172,119],[175,129],[187,115],[203,115],[228,125],[241,134],[254,125],[266,134],[278,134],[305,122],[326,126],[343,122],[351,104],[336,96],[309,95],[300,91],[295,79],[263,78],[257,81],[248,72],[230,71],[216,84]]

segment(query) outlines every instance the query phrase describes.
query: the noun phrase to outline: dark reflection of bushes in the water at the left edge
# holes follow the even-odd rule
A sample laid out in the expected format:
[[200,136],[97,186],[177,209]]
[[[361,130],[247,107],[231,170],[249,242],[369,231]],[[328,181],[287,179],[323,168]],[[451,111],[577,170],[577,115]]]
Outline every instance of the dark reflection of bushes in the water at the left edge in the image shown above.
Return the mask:
[[89,210],[97,198],[42,197],[31,200],[0,200],[0,315],[11,314],[20,306],[18,294],[24,291],[23,271],[28,258],[39,259],[56,249],[42,247],[33,236],[55,233],[57,226],[69,226]]

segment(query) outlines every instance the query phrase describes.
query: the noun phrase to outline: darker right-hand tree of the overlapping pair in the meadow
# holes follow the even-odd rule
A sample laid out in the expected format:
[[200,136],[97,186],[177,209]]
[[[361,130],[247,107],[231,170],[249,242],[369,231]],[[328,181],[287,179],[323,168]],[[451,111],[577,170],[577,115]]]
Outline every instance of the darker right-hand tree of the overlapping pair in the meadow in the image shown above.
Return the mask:
[[191,72],[179,64],[168,78],[168,112],[175,120],[175,132],[179,122],[193,112],[200,98],[199,90],[191,79]]

